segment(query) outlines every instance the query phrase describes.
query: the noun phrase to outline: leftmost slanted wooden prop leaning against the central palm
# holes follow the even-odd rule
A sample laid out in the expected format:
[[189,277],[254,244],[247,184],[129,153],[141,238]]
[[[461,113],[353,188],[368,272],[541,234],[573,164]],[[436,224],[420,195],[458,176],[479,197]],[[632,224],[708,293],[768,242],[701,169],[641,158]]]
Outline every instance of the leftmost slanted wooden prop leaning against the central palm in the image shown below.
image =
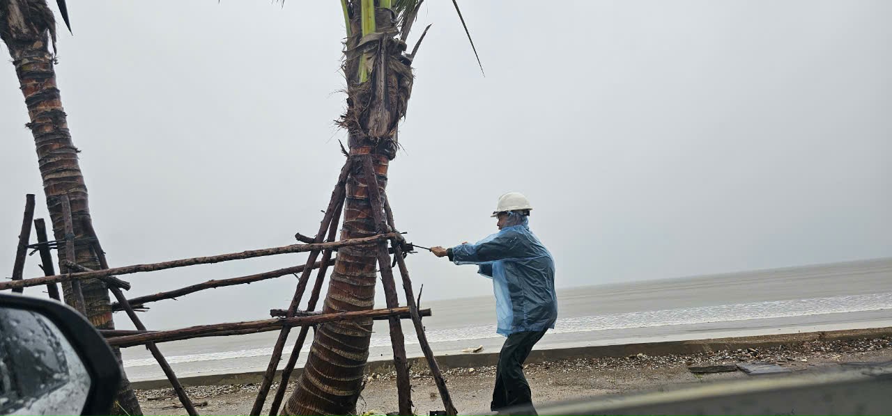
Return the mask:
[[[332,219],[335,217],[335,211],[338,211],[338,216],[340,216],[340,211],[337,208],[342,206],[343,199],[346,197],[344,185],[347,183],[347,177],[350,175],[352,166],[353,160],[351,158],[347,158],[347,161],[344,162],[343,167],[341,168],[341,175],[338,175],[337,184],[335,184],[335,190],[332,191],[332,197],[328,200],[326,214],[325,216],[322,216],[322,221],[319,223],[318,232],[316,232],[316,237],[313,239],[314,241],[316,241],[316,243],[306,244],[304,246],[315,247],[315,249],[310,251],[310,257],[307,258],[306,267],[303,269],[303,273],[301,273],[301,279],[298,281],[297,289],[294,290],[294,296],[291,298],[291,305],[288,306],[288,318],[285,319],[295,319],[291,317],[294,316],[294,312],[296,312],[297,307],[300,306],[301,298],[303,297],[303,291],[307,289],[307,282],[310,281],[310,273],[312,272],[312,269],[310,269],[310,265],[316,262],[316,258],[322,250],[335,248],[334,246],[330,245],[334,244],[332,242],[321,242],[326,236],[326,231],[331,225]],[[354,239],[353,241],[356,240],[363,239]],[[371,241],[367,241],[366,243],[368,244],[368,242]],[[329,246],[325,246],[326,244],[329,244]],[[276,376],[276,368],[278,367],[279,360],[282,359],[282,349],[285,348],[285,341],[288,340],[288,333],[290,331],[290,326],[283,326],[282,330],[279,331],[278,339],[276,339],[276,347],[273,347],[273,354],[269,357],[267,371],[263,373],[263,380],[260,381],[260,389],[257,392],[257,398],[254,400],[254,405],[251,408],[251,416],[260,416],[260,411],[263,410],[263,404],[267,401],[269,387],[273,384],[273,378]]]

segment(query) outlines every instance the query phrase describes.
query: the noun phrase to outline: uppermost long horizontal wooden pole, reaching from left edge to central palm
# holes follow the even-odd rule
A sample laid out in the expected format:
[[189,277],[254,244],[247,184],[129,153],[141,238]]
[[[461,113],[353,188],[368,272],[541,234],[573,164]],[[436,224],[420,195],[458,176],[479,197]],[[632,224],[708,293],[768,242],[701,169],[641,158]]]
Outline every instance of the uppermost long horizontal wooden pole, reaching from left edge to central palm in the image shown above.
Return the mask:
[[94,272],[82,273],[66,273],[56,274],[54,276],[35,277],[21,281],[0,281],[0,290],[10,290],[15,288],[28,288],[31,286],[39,286],[46,283],[59,281],[77,281],[80,279],[98,279],[101,276],[111,276],[132,273],[154,272],[158,270],[172,269],[175,267],[186,267],[188,265],[209,265],[212,263],[220,263],[232,260],[241,260],[244,258],[276,256],[279,254],[289,253],[305,253],[312,251],[321,251],[324,249],[338,249],[341,247],[353,247],[372,244],[387,239],[402,240],[402,236],[397,233],[380,234],[372,237],[364,237],[359,239],[323,242],[316,244],[292,244],[290,246],[274,247],[271,249],[256,249],[242,251],[240,253],[221,254],[209,257],[192,257],[181,260],[171,260],[161,263],[150,263],[146,265],[126,265],[123,267],[115,267],[108,270],[96,270]]

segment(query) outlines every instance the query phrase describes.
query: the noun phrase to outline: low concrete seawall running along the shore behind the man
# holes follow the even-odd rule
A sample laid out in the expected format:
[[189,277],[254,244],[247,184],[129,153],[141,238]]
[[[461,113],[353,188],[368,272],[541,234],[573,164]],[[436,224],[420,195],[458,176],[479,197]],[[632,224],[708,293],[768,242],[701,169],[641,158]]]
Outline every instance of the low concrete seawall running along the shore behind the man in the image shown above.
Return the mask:
[[[797,344],[805,341],[834,341],[850,339],[871,339],[892,336],[892,327],[871,328],[866,330],[832,330],[821,332],[804,332],[796,334],[765,335],[756,337],[738,337],[723,339],[691,339],[685,341],[648,342],[638,344],[619,344],[610,346],[570,347],[533,350],[526,363],[554,362],[577,358],[624,357],[629,355],[683,355],[738,348],[767,348],[780,345]],[[495,365],[499,353],[439,355],[437,363],[443,370],[451,368],[482,367]],[[409,365],[415,369],[427,369],[424,357],[409,358]],[[296,379],[302,369],[294,369],[292,379]],[[393,371],[392,360],[368,362],[369,372]],[[229,374],[211,374],[180,378],[184,386],[213,386],[227,384],[260,383],[263,371],[250,371]],[[277,371],[276,379],[279,379]],[[167,379],[133,381],[136,389],[169,388]]]

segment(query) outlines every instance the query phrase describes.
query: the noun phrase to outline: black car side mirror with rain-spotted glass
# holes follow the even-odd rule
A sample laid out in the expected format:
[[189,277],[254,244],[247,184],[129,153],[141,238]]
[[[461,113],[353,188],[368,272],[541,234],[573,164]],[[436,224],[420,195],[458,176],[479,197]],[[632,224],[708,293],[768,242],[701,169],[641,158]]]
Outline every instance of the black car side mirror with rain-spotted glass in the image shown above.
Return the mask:
[[107,414],[120,379],[111,348],[77,311],[0,295],[0,416]]

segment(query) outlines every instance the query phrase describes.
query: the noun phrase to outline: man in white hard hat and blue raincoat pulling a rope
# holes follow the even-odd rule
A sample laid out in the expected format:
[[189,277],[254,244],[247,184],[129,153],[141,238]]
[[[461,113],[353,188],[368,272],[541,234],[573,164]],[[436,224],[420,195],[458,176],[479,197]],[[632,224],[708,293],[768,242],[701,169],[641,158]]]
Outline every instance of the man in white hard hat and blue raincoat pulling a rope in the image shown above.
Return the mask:
[[523,194],[508,192],[499,198],[492,213],[499,218],[499,232],[475,244],[431,248],[434,255],[449,257],[456,265],[478,265],[478,273],[492,279],[497,332],[508,337],[499,353],[490,404],[493,411],[528,405],[535,414],[530,385],[524,377],[524,361],[558,319],[555,262],[530,231],[532,209]]

